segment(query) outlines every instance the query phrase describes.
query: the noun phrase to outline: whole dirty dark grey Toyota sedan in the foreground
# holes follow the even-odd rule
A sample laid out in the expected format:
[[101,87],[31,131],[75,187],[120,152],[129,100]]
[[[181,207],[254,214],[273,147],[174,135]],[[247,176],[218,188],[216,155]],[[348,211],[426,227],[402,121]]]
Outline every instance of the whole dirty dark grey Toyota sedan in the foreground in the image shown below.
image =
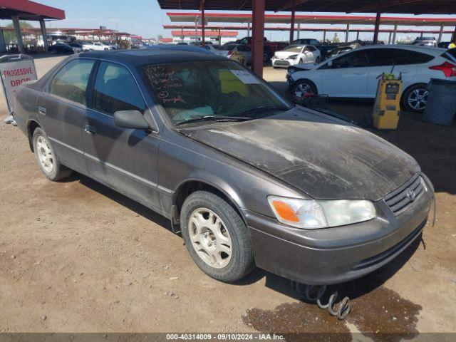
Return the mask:
[[15,118],[49,180],[75,170],[164,215],[221,281],[358,278],[420,236],[433,198],[405,152],[220,56],[81,53],[22,86]]

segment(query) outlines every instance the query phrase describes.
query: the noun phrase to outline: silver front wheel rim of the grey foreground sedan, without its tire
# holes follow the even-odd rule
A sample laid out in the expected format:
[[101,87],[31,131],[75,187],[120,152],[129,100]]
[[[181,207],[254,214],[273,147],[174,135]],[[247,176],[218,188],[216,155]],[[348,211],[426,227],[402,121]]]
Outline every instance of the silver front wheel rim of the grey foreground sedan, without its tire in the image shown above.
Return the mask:
[[222,219],[206,208],[190,215],[188,230],[199,258],[215,269],[222,269],[232,257],[232,241]]

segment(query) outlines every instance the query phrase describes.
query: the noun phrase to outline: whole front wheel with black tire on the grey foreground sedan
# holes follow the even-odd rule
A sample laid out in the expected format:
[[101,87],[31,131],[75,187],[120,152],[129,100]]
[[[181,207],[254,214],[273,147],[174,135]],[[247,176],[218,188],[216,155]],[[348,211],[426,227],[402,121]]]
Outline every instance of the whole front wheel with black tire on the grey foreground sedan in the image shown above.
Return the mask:
[[249,229],[221,197],[193,192],[182,205],[180,222],[190,257],[208,276],[233,282],[254,269]]

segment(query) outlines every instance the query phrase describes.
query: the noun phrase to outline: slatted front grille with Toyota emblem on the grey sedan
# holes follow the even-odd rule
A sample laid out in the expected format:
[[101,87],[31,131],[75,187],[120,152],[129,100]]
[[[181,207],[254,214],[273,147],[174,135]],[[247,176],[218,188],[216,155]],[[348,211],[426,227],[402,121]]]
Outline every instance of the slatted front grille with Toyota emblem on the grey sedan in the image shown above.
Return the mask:
[[385,202],[394,214],[398,215],[405,211],[425,191],[423,177],[416,175],[398,190],[391,192],[385,197]]

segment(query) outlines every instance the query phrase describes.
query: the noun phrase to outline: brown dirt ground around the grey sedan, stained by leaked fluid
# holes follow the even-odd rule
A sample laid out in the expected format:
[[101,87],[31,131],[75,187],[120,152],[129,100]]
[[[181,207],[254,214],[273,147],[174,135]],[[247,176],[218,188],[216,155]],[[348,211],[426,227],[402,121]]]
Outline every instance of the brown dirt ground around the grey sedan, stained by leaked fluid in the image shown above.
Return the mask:
[[[38,74],[58,60],[37,60]],[[268,76],[284,80],[283,71]],[[330,109],[356,119],[371,104]],[[238,284],[210,279],[166,219],[81,175],[49,182],[26,137],[1,122],[0,332],[361,331],[367,341],[380,341],[375,332],[456,332],[456,127],[403,113],[398,130],[378,134],[430,177],[437,219],[390,264],[331,286],[351,297],[351,314],[338,321],[259,269]]]

